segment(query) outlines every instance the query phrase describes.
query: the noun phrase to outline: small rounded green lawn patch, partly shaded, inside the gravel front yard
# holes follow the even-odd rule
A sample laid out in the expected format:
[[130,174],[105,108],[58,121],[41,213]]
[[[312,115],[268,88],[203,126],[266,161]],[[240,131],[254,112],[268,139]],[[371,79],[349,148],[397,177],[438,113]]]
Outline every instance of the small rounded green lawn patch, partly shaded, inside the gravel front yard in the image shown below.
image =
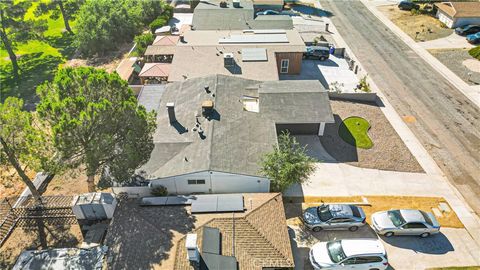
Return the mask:
[[338,128],[338,135],[346,143],[363,148],[370,149],[373,147],[373,142],[368,137],[368,130],[370,129],[370,124],[367,120],[361,117],[348,117],[343,120],[342,124]]

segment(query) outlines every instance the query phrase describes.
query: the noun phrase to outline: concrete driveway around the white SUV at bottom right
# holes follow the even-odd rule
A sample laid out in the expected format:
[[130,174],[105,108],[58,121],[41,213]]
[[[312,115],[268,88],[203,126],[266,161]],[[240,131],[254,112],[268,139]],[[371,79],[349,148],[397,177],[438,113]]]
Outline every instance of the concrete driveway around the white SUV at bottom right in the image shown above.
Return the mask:
[[[290,226],[289,234],[297,270],[312,269],[308,260],[308,252],[310,247],[317,242],[351,238],[379,238],[368,225],[356,232],[322,231],[318,233],[303,227]],[[412,270],[480,264],[480,251],[465,229],[443,228],[440,234],[426,239],[402,236],[380,237],[380,240],[387,250],[391,269]]]

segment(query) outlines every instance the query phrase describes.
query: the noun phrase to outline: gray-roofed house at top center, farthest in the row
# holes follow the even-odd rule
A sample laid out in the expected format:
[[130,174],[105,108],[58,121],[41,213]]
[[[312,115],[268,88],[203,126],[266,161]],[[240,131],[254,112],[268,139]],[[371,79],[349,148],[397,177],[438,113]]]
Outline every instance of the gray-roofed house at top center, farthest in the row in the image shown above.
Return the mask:
[[194,30],[245,30],[245,29],[293,29],[288,15],[264,15],[255,18],[254,3],[240,0],[234,5],[231,0],[200,2],[193,12]]

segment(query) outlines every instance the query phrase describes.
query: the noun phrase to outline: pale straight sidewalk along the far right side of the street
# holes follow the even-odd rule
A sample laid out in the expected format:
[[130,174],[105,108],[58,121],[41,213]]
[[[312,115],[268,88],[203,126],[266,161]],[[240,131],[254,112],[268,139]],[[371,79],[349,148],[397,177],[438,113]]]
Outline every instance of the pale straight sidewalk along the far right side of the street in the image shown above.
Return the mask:
[[438,59],[431,55],[420,44],[416,43],[407,34],[405,34],[398,26],[390,21],[385,15],[377,10],[374,2],[360,0],[369,10],[375,15],[385,26],[390,28],[405,44],[407,44],[414,52],[416,52],[423,60],[429,63],[435,70],[442,74],[450,83],[457,87],[468,99],[475,105],[480,107],[480,85],[470,86],[464,82],[460,77],[443,65]]

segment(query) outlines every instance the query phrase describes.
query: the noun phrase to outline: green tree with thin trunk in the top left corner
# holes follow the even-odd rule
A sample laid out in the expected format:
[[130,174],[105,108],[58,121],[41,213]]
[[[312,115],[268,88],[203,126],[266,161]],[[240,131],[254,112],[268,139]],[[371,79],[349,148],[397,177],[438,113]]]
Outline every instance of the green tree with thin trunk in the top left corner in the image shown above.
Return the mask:
[[48,28],[46,20],[25,20],[31,1],[0,1],[1,47],[12,62],[12,75],[19,78],[20,68],[15,54],[16,45],[39,39]]

